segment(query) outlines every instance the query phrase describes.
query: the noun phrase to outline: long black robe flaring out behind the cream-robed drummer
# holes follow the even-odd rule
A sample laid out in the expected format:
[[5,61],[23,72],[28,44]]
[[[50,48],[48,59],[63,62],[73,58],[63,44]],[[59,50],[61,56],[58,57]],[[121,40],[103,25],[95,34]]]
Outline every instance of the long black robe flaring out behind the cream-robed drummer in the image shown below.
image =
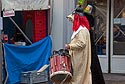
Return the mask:
[[90,30],[91,54],[92,54],[91,56],[92,84],[105,84],[99,58],[96,53],[96,46],[93,36],[94,36],[93,31]]

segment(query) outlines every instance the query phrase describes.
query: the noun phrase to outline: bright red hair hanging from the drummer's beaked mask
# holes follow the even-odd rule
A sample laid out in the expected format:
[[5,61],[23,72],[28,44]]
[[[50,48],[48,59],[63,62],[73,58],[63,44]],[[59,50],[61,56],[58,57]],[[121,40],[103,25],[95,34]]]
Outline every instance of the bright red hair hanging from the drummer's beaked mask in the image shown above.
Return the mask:
[[79,14],[74,15],[74,21],[73,21],[73,31],[77,31],[79,26],[85,26],[88,30],[90,30],[89,22],[85,16],[80,16]]

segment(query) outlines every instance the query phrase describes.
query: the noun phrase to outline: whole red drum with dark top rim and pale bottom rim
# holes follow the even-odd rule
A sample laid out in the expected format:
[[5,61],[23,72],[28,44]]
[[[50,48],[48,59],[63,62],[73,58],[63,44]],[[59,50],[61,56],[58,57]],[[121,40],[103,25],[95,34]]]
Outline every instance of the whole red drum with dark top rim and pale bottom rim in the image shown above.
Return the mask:
[[50,58],[50,79],[53,82],[68,82],[71,80],[72,74],[71,62],[68,50],[60,49],[53,51]]

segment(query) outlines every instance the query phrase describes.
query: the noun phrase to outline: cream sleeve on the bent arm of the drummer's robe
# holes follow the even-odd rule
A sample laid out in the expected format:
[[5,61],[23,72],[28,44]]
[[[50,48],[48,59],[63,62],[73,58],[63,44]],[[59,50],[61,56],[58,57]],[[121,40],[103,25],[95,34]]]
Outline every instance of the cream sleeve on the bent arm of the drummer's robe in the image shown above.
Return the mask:
[[89,32],[87,29],[82,29],[78,32],[78,34],[75,36],[75,41],[71,42],[69,44],[70,49],[82,49],[86,46],[87,38],[89,38]]

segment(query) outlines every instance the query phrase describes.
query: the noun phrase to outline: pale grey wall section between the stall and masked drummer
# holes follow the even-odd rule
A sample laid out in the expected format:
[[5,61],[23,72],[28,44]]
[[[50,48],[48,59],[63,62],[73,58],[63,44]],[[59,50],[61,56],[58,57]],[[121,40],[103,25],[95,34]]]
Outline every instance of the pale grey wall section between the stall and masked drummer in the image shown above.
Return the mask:
[[53,50],[64,48],[64,44],[70,41],[72,24],[66,16],[74,9],[74,2],[71,0],[52,0],[51,37]]

